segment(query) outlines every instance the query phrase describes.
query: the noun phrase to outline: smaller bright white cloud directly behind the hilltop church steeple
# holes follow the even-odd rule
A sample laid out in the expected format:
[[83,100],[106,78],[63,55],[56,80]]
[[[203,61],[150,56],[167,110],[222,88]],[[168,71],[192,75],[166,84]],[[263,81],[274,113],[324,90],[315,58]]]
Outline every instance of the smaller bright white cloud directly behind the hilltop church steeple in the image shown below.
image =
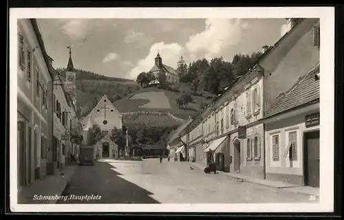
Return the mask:
[[138,61],[136,67],[131,69],[131,71],[128,74],[128,77],[131,79],[135,79],[136,76],[140,74],[140,72],[148,72],[154,65],[154,58],[158,53],[158,50],[160,54],[164,54],[162,56],[162,63],[170,65],[173,68],[176,68],[180,55],[184,52],[184,48],[178,43],[155,43],[151,46],[151,49],[149,50],[149,54],[147,55],[147,57]]

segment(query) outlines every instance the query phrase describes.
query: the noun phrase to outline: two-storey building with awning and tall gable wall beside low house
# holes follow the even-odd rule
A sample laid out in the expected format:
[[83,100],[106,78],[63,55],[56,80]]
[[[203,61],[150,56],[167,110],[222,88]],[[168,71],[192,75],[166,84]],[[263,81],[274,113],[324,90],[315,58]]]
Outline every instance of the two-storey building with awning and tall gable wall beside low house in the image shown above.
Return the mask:
[[[291,29],[272,47],[264,46],[264,54],[249,72],[202,115],[203,141],[198,148],[206,154],[212,150],[219,170],[265,178],[265,128],[261,119],[295,79],[319,63],[319,19],[288,22]],[[199,130],[194,127],[186,132],[197,136],[194,133]],[[208,156],[195,154],[206,166]]]

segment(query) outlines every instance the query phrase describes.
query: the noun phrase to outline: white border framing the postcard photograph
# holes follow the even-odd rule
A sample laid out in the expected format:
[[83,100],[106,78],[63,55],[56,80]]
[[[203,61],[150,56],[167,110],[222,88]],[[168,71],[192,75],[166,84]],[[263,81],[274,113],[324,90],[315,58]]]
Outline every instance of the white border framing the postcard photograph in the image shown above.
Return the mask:
[[[15,212],[329,212],[334,206],[334,7],[273,8],[10,8],[10,39],[17,19],[142,18],[320,18],[321,170],[319,203],[241,204],[17,204],[17,115],[10,114],[10,208]],[[17,42],[10,41],[10,109],[17,109]],[[16,68],[14,68],[16,67]],[[14,112],[14,111],[13,111]]]

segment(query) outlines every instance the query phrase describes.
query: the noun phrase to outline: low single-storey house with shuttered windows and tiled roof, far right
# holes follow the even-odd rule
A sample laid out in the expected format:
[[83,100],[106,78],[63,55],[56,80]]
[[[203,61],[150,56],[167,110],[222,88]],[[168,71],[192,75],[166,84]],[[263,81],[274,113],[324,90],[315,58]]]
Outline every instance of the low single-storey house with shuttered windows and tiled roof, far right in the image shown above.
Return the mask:
[[319,98],[317,65],[266,113],[267,179],[319,187]]

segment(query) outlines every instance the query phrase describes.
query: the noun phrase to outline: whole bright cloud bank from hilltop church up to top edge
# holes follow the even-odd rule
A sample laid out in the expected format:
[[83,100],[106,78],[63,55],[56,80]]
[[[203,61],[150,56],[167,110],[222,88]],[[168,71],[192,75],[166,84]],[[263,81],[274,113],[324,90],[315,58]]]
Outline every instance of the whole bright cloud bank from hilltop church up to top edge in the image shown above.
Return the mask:
[[160,50],[162,63],[176,68],[180,56],[186,62],[198,58],[214,58],[229,50],[241,41],[242,30],[249,28],[241,19],[206,19],[204,31],[194,34],[185,45],[178,43],[155,43],[151,46],[146,58],[138,61],[131,69],[129,78],[136,78],[140,72],[147,72],[154,65],[154,58]]

